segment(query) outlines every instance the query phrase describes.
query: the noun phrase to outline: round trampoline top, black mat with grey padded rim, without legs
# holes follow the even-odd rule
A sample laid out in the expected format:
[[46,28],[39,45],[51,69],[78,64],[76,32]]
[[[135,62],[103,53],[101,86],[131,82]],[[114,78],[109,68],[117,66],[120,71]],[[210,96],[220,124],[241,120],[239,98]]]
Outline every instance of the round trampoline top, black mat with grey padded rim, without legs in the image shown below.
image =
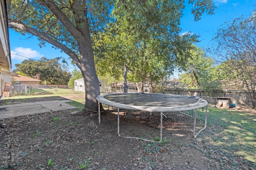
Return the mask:
[[97,96],[108,106],[142,111],[185,111],[206,106],[206,100],[197,96],[174,94],[118,93]]

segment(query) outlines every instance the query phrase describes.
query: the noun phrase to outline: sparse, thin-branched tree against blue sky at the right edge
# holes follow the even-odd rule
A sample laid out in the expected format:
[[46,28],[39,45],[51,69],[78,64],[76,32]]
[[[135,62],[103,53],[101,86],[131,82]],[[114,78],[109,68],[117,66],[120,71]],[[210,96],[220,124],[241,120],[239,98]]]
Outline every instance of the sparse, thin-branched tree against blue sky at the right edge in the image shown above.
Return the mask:
[[[256,12],[254,11],[254,14]],[[225,61],[224,71],[232,76],[236,84],[247,89],[256,105],[256,16],[236,18],[225,22],[214,39],[214,53],[221,61]]]

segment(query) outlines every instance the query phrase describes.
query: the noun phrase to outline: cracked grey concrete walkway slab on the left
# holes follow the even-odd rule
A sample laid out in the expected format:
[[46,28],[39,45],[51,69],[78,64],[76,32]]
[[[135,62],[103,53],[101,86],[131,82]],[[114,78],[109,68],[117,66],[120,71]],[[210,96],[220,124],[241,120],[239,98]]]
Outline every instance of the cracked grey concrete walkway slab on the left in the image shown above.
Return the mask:
[[72,101],[52,100],[0,106],[0,120],[37,113],[76,109],[76,107],[66,104],[66,102]]

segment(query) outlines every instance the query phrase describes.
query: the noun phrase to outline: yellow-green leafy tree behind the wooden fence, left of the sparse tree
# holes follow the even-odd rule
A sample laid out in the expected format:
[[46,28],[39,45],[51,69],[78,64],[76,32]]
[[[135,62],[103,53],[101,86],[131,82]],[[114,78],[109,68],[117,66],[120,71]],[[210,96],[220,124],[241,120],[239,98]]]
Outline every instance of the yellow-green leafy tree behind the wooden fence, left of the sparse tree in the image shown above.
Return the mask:
[[191,58],[186,61],[184,73],[179,74],[180,82],[188,88],[212,89],[218,88],[218,80],[215,79],[214,61],[207,57],[204,50],[192,45]]

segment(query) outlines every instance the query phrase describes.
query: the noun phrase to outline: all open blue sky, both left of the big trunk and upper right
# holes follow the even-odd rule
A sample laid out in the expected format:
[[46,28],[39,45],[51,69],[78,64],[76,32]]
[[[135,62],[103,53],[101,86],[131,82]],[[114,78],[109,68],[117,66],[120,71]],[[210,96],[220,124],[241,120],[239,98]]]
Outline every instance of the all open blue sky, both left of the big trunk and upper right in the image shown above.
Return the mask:
[[[181,19],[180,26],[182,27],[182,33],[191,31],[192,33],[200,35],[200,43],[196,43],[196,45],[202,48],[208,47],[208,44],[214,37],[214,33],[225,21],[232,21],[242,15],[249,16],[253,14],[253,10],[256,9],[255,0],[214,0],[214,4],[217,7],[214,11],[215,14],[210,16],[204,14],[199,21],[194,21],[193,16],[190,14],[191,5],[188,5]],[[20,33],[16,33],[12,29],[9,29],[9,34],[12,70],[16,68],[14,64],[20,64],[28,58],[38,60],[41,57],[48,59],[63,57],[68,63],[71,61],[68,55],[61,53],[58,49],[52,48],[50,44],[46,44],[46,47],[40,48],[38,46],[38,39],[35,36],[28,38]],[[70,71],[75,68],[75,66],[71,64],[69,64],[68,67]]]

